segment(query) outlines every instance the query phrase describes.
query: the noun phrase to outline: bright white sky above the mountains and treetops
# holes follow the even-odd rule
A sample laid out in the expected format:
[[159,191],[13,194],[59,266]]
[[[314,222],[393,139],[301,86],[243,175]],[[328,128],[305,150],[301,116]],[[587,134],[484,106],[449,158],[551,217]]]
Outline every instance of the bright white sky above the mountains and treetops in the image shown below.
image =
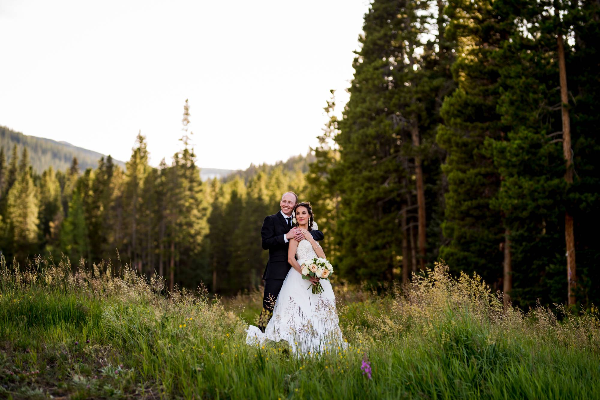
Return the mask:
[[0,125],[127,161],[206,168],[306,154],[348,100],[369,0],[0,2]]

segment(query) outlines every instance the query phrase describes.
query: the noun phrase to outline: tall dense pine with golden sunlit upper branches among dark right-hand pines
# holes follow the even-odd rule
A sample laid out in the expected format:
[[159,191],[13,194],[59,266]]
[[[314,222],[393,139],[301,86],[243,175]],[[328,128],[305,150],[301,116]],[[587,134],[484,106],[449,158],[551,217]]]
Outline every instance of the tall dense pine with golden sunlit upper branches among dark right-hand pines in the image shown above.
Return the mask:
[[492,209],[500,186],[486,140],[502,138],[496,104],[500,95],[497,54],[510,35],[512,20],[497,13],[490,1],[457,1],[446,8],[446,35],[457,43],[452,67],[458,88],[446,98],[437,143],[447,152],[442,170],[448,179],[445,221],[448,243],[440,257],[452,270],[481,274],[487,282],[502,276],[506,229],[502,213]]

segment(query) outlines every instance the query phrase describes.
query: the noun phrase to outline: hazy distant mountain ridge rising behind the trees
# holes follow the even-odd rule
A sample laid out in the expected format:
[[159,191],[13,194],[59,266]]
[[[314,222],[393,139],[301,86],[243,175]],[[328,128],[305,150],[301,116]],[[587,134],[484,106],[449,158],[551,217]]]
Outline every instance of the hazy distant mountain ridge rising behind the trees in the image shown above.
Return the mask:
[[[10,160],[14,145],[17,145],[19,157],[23,147],[27,148],[29,163],[37,173],[42,173],[50,166],[55,170],[67,170],[71,166],[73,157],[77,157],[80,171],[84,171],[88,167],[95,169],[98,167],[98,160],[101,157],[106,158],[104,154],[71,145],[64,140],[56,141],[45,137],[29,136],[0,125],[0,147],[4,148],[7,161]],[[113,162],[125,168],[124,161],[113,158]],[[234,172],[236,170],[201,168],[200,177],[203,181],[213,178],[223,179]]]

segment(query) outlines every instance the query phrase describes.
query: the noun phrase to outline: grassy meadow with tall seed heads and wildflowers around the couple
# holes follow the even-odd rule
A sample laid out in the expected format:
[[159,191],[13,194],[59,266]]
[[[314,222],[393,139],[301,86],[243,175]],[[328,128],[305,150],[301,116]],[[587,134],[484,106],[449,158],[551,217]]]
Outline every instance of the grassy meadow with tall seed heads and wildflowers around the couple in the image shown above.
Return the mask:
[[260,291],[0,261],[0,398],[600,398],[597,309],[504,309],[442,264],[405,288],[334,282],[349,348],[297,358],[245,344]]

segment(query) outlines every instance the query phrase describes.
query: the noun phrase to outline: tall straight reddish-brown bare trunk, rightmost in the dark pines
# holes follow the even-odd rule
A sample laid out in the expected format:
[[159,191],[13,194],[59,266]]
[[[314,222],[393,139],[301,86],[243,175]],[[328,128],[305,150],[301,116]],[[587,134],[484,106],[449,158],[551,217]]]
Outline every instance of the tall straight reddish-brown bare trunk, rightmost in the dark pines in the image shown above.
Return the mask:
[[[566,86],[566,65],[565,65],[565,45],[562,34],[557,35],[558,53],[559,53],[559,74],[560,74],[560,103],[562,110],[563,123],[563,155],[565,157],[565,181],[567,185],[573,183],[573,158],[571,154],[571,121],[569,119],[569,92]],[[565,212],[565,243],[566,243],[566,275],[568,281],[568,304],[575,305],[575,287],[577,284],[577,275],[575,274],[575,234],[573,232],[573,216],[569,213],[569,207]]]

